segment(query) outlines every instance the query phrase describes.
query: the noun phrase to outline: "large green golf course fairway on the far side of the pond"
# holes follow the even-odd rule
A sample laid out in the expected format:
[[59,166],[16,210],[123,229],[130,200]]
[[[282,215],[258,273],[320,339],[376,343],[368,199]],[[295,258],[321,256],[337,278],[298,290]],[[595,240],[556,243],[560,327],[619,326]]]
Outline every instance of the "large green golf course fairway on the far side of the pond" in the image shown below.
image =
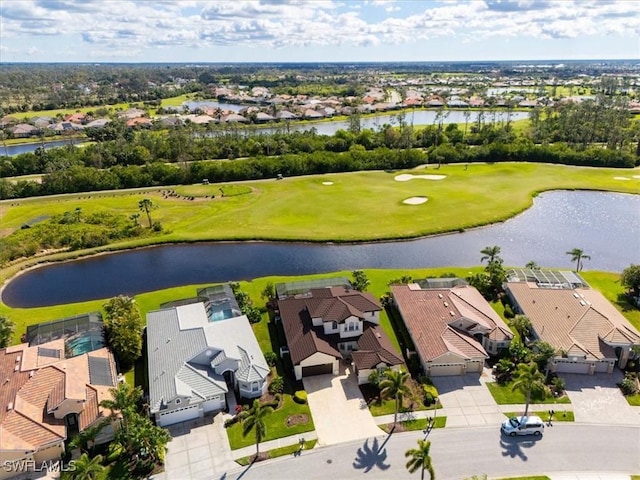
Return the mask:
[[[77,207],[87,214],[106,209],[131,215],[138,212],[138,202],[148,197],[158,206],[153,219],[162,223],[165,234],[69,255],[176,241],[380,240],[459,231],[504,220],[528,208],[537,191],[640,191],[640,179],[633,178],[640,168],[596,169],[532,163],[472,164],[467,170],[464,167],[443,165],[437,173],[446,178],[439,181],[398,182],[394,178],[400,172],[375,171],[244,182],[242,185],[250,187],[251,193],[228,197],[220,197],[221,184],[179,187],[185,196],[216,195],[215,199],[163,197],[163,189],[157,188],[5,201],[0,203],[2,227],[7,234],[35,217]],[[435,171],[430,167],[412,173]],[[616,176],[629,180],[616,180]],[[333,184],[323,185],[327,181]],[[427,196],[428,202],[403,203],[413,196]],[[64,257],[58,254],[50,258]],[[3,270],[0,280],[33,262],[31,259]]]

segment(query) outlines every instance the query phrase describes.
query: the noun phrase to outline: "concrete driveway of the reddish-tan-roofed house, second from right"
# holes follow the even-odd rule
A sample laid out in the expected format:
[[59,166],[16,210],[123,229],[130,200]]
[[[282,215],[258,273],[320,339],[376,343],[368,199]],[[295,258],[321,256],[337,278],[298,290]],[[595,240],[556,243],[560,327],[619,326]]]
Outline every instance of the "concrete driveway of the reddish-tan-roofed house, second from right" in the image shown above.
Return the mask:
[[504,414],[485,385],[492,381],[490,372],[485,369],[481,375],[432,378],[443,413],[447,415],[447,427],[500,425],[504,421]]

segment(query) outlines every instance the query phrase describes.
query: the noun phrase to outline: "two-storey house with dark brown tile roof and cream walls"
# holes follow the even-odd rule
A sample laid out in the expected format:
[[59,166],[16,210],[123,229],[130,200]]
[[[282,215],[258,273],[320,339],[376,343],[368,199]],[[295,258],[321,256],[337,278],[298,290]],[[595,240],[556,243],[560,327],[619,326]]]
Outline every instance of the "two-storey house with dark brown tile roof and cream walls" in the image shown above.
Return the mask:
[[368,378],[364,370],[382,363],[385,368],[399,365],[401,357],[381,328],[374,329],[374,338],[367,334],[380,324],[381,310],[373,295],[346,286],[311,288],[279,299],[278,314],[296,379],[337,375],[341,359],[352,358],[363,378]]

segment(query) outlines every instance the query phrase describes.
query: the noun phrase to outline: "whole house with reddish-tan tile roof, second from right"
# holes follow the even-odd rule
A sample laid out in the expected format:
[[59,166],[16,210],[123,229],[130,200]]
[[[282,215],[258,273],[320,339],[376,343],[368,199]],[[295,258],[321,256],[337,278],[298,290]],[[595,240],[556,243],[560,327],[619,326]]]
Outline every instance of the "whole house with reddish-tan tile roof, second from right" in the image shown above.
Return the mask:
[[499,354],[513,339],[478,290],[455,281],[451,285],[391,286],[422,368],[431,377],[482,372],[489,355]]

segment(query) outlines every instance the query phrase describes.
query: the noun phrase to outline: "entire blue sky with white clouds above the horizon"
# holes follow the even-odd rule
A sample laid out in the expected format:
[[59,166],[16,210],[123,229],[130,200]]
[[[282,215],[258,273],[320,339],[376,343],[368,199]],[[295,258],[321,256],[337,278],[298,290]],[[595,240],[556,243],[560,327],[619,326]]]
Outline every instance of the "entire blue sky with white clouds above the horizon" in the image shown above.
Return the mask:
[[2,0],[2,62],[640,58],[638,0]]

